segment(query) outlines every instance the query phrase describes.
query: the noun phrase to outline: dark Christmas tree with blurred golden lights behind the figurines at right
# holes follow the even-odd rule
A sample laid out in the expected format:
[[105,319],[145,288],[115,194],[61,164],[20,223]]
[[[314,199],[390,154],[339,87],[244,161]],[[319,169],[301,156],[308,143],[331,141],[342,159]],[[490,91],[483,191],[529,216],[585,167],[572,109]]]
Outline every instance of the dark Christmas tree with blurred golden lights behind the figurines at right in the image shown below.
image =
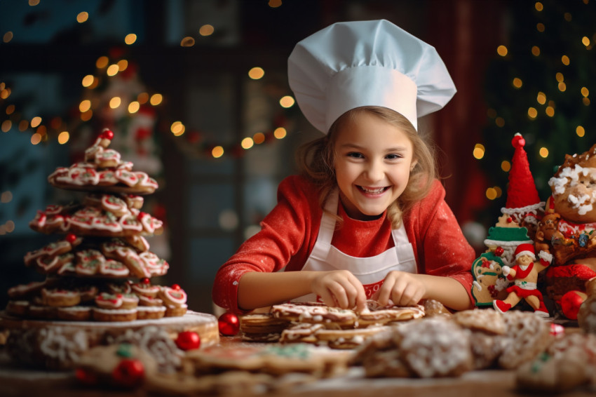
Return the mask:
[[596,131],[590,104],[590,89],[596,90],[596,2],[511,4],[508,43],[497,48],[499,56],[487,70],[485,147],[476,155],[493,186],[486,213],[503,207],[513,134],[524,136],[536,187],[546,200],[555,167],[565,154],[587,150]]

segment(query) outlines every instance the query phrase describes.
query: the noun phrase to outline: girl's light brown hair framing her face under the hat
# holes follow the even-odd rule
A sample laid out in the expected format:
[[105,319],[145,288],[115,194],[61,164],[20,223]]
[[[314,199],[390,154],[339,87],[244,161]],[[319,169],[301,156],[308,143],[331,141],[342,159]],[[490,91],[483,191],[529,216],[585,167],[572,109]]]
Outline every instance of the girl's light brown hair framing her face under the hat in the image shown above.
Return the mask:
[[416,161],[416,166],[409,175],[409,182],[403,193],[387,208],[387,216],[393,227],[396,228],[402,222],[402,215],[428,194],[437,176],[433,147],[419,135],[412,123],[398,112],[377,106],[357,107],[349,110],[332,124],[325,137],[308,142],[298,149],[297,163],[302,175],[320,188],[319,200],[323,207],[329,194],[337,187],[334,154],[337,131],[346,122],[353,121],[355,115],[362,113],[377,116],[399,128],[412,142],[414,149],[412,161]]

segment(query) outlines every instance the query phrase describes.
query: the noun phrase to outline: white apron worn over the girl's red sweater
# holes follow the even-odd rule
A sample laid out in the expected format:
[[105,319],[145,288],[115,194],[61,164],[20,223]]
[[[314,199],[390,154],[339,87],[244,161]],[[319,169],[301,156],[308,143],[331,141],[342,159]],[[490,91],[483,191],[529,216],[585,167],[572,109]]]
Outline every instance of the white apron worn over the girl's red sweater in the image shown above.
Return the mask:
[[[325,203],[325,210],[337,213],[339,192],[335,191]],[[323,211],[317,241],[302,270],[330,271],[349,270],[363,283],[366,297],[369,299],[381,288],[385,276],[389,271],[399,270],[416,273],[416,258],[414,249],[409,243],[405,227],[402,223],[399,229],[393,229],[393,243],[395,247],[374,257],[353,257],[342,253],[331,245],[335,230],[335,218]],[[304,295],[293,302],[316,302],[315,294]]]

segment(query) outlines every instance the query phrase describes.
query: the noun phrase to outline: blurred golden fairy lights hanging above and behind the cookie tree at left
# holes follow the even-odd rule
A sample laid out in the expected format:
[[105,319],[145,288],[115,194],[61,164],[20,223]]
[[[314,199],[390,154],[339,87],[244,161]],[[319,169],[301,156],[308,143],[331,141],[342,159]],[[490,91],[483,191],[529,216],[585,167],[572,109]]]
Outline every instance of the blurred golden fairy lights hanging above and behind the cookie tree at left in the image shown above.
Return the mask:
[[[39,4],[39,0],[29,0],[29,6],[36,6]],[[270,0],[269,7],[277,8],[282,5],[281,0]],[[84,23],[89,19],[87,12],[81,12],[76,15],[76,22]],[[215,32],[215,28],[212,25],[203,25],[198,31],[201,36],[210,36]],[[4,43],[9,43],[14,38],[14,33],[9,31],[3,36]],[[134,33],[127,34],[124,37],[124,43],[127,46],[132,46],[137,41],[137,35]],[[180,41],[180,46],[191,47],[194,46],[195,39],[192,36],[185,36]],[[126,59],[111,59],[107,55],[102,55],[97,58],[95,62],[96,72],[95,74],[88,74],[83,76],[81,79],[81,85],[83,88],[88,90],[95,90],[100,87],[102,80],[107,78],[113,78],[121,73],[126,73],[129,62]],[[265,76],[265,70],[262,67],[252,67],[248,71],[248,78],[252,80],[259,80]],[[90,99],[81,100],[78,107],[78,120],[75,123],[72,120],[65,121],[61,116],[34,116],[31,119],[25,118],[25,116],[19,112],[14,104],[8,103],[13,88],[8,86],[6,82],[0,81],[0,103],[6,102],[4,107],[4,113],[6,117],[0,122],[0,130],[3,133],[7,133],[12,128],[18,128],[19,131],[24,132],[26,130],[32,130],[31,143],[39,144],[41,142],[48,142],[48,140],[54,139],[59,144],[66,144],[70,140],[72,130],[79,125],[79,123],[87,122],[93,119],[94,111],[97,110],[100,103]],[[139,93],[134,100],[124,103],[123,98],[119,96],[111,97],[108,101],[108,106],[111,109],[118,109],[120,107],[126,107],[126,112],[133,116],[144,106],[159,107],[164,101],[164,95],[161,93]],[[288,109],[294,106],[295,100],[291,95],[285,95],[280,97],[279,106],[283,109]],[[0,119],[1,120],[1,119]],[[183,121],[171,121],[168,123],[169,132],[174,137],[182,137],[187,133],[187,126]],[[281,140],[287,136],[287,130],[284,126],[277,126],[272,130],[257,132],[251,136],[246,136],[241,139],[241,142],[233,144],[224,144],[217,142],[199,142],[201,136],[196,131],[191,131],[187,134],[187,140],[181,143],[179,146],[185,151],[192,149],[194,154],[199,156],[211,156],[212,158],[219,158],[225,154],[231,154],[233,156],[241,156],[240,150],[248,150],[255,145],[264,144],[273,140]],[[190,143],[190,144],[189,144]],[[198,148],[198,149],[197,149]]]

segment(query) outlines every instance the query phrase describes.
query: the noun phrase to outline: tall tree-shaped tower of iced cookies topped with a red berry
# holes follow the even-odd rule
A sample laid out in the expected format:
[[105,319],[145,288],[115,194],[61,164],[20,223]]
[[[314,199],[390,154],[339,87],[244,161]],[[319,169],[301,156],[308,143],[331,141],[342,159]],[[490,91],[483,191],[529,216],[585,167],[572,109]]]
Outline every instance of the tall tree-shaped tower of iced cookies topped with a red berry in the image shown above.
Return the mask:
[[62,238],[25,255],[25,266],[44,281],[8,289],[6,313],[20,318],[65,321],[133,321],[183,316],[187,295],[180,285],[152,285],[168,262],[152,253],[145,236],[161,234],[163,222],[142,212],[142,195],[156,180],[135,171],[109,149],[114,133],[105,129],[85,159],[57,168],[54,187],[85,191],[80,203],[50,205],[29,226]]

